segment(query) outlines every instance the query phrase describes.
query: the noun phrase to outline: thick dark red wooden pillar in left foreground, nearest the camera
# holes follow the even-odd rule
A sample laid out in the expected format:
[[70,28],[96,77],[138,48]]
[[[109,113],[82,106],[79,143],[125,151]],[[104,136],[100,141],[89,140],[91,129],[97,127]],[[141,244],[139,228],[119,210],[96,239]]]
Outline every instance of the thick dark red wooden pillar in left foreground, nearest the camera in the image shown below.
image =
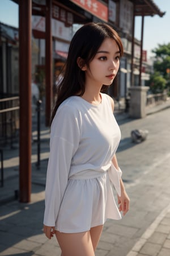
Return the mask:
[[19,200],[31,200],[31,13],[32,0],[19,0]]

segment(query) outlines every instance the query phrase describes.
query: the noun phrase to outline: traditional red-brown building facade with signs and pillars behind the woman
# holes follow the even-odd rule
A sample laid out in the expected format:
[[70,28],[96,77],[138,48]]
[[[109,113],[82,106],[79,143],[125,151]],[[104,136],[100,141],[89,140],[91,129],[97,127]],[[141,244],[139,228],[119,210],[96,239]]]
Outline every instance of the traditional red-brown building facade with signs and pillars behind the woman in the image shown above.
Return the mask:
[[[12,1],[19,5],[19,57],[14,53],[13,43],[16,39],[11,44],[8,33],[3,33],[4,24],[2,24],[0,35],[1,98],[18,93],[20,100],[19,200],[27,203],[31,200],[32,79],[37,79],[42,85],[41,93],[45,98],[45,123],[49,126],[54,82],[67,57],[67,49],[76,27],[87,22],[106,22],[121,36],[125,49],[120,71],[109,94],[114,98],[125,98],[132,85],[142,85],[144,17],[155,14],[163,16],[164,13],[152,0]],[[135,16],[142,16],[139,44],[134,39]],[[12,28],[13,30],[15,28]],[[16,42],[17,49],[18,41]],[[12,50],[10,50],[10,44]],[[136,48],[140,52],[139,57],[135,55]],[[15,61],[18,63],[16,64]],[[19,67],[18,71],[17,67]],[[18,73],[17,80],[15,76]]]

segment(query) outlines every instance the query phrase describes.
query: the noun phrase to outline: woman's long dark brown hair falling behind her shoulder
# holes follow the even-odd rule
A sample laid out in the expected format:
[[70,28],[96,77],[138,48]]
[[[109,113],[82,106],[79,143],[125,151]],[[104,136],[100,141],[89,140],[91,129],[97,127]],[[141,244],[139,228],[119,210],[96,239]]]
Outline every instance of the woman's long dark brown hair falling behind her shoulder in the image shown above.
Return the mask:
[[[97,50],[106,38],[114,39],[123,54],[123,46],[117,32],[105,23],[87,23],[76,31],[71,40],[69,52],[65,64],[65,72],[61,84],[58,86],[57,101],[52,112],[51,122],[57,112],[59,105],[70,96],[82,96],[85,91],[85,72],[79,68],[77,59],[83,60],[83,65],[89,67],[90,61],[94,59]],[[108,86],[107,86],[108,87]],[[101,92],[105,90],[103,85]]]

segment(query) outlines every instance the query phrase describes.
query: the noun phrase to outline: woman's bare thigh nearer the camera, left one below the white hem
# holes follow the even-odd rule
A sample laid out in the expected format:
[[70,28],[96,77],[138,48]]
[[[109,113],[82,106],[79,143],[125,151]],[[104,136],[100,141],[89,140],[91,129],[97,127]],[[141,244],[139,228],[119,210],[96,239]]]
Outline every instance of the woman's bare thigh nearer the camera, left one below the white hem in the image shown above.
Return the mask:
[[61,233],[56,231],[62,256],[95,256],[90,231],[81,233]]

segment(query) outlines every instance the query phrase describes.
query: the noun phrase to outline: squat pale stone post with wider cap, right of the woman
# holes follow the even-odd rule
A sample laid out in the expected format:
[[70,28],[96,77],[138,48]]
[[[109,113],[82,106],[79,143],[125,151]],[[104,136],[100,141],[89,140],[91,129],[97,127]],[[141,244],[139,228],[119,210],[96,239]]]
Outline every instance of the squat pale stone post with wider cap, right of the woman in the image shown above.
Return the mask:
[[129,115],[133,118],[146,117],[146,100],[148,86],[131,86]]

